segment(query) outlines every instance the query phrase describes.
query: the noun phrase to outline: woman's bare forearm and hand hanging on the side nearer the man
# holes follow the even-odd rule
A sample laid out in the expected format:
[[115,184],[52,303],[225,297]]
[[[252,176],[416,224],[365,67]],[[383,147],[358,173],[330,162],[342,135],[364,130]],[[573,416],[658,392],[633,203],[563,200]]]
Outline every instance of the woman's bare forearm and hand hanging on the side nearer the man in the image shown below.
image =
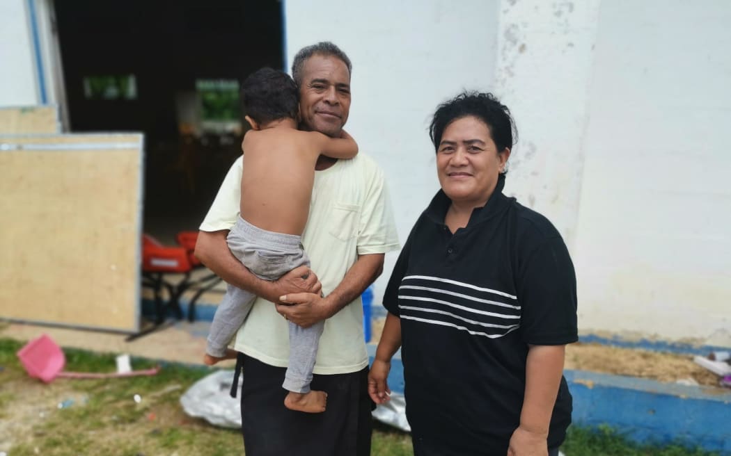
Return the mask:
[[368,372],[368,395],[375,403],[385,403],[389,400],[391,390],[387,378],[391,370],[391,358],[399,347],[401,347],[401,318],[389,312],[376,349],[376,358],[371,371]]

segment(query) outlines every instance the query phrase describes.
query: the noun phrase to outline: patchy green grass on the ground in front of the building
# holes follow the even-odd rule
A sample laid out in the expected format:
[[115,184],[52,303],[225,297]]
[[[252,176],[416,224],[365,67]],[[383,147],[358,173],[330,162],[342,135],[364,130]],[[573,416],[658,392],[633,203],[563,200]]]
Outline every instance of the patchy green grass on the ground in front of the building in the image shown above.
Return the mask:
[[[0,339],[0,452],[26,455],[242,455],[238,430],[188,417],[179,398],[207,368],[167,364],[156,376],[30,379],[15,356],[22,343]],[[68,371],[110,372],[115,355],[64,349]],[[133,360],[135,369],[153,367]],[[133,400],[135,394],[143,400]],[[59,409],[58,404],[67,405]],[[12,444],[11,444],[12,442]],[[640,446],[611,428],[569,429],[567,456],[711,456],[681,444]],[[372,455],[411,456],[408,433],[374,422]]]

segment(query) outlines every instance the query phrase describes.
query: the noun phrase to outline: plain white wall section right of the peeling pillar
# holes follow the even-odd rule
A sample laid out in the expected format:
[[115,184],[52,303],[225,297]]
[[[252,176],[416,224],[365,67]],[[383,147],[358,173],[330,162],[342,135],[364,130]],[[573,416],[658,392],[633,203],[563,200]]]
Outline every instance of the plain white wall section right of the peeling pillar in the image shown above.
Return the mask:
[[603,1],[575,263],[583,331],[731,346],[731,4]]

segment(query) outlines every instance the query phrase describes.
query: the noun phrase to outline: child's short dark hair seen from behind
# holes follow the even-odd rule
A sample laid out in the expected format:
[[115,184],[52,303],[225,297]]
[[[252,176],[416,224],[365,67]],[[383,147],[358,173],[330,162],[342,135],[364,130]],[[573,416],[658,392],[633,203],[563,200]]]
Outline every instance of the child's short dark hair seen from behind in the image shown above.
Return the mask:
[[297,118],[300,93],[287,73],[271,68],[257,70],[243,81],[241,94],[246,115],[258,123]]

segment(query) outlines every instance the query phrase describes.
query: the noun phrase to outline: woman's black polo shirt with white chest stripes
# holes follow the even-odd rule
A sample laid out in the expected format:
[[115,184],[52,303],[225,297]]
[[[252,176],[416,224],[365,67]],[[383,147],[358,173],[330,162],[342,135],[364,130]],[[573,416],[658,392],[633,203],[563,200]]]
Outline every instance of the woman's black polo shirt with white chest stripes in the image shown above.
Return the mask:
[[[528,344],[577,341],[576,278],[561,235],[502,193],[454,235],[442,190],[395,264],[386,309],[401,318],[406,417],[440,455],[507,453],[520,423]],[[561,379],[548,446],[564,441],[572,401]]]

